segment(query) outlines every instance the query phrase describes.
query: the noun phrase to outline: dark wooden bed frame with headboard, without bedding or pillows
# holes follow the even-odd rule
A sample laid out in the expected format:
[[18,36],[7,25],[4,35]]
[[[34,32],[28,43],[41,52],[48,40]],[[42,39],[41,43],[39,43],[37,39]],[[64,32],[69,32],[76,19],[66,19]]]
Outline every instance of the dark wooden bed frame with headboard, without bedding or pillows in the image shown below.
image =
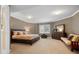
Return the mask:
[[12,39],[13,31],[25,31],[22,29],[11,29],[11,43],[25,43],[32,45],[40,39],[40,37],[33,38],[32,40],[23,40],[23,39]]

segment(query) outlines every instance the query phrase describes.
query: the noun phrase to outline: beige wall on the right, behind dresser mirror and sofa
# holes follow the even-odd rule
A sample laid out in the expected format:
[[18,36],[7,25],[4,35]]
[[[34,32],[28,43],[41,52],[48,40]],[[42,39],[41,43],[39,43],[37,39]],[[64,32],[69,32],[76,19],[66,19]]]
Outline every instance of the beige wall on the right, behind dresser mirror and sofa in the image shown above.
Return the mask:
[[65,24],[65,31],[67,34],[70,33],[79,34],[79,13],[77,13],[73,17],[55,22],[54,26],[58,24]]

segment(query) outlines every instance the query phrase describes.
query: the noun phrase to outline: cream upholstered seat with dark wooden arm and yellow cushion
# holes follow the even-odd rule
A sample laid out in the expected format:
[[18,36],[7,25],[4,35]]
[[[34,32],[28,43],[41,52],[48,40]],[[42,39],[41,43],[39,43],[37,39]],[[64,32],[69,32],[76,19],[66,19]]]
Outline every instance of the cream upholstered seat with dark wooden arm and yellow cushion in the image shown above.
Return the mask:
[[70,34],[69,38],[61,37],[61,40],[70,47],[71,51],[79,50],[79,35]]

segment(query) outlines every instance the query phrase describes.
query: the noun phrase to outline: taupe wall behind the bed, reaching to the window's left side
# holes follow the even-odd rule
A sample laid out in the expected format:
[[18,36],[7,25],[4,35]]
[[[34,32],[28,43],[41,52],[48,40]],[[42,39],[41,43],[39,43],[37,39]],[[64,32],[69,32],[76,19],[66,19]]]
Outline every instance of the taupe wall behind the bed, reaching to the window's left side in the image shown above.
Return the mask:
[[38,33],[38,24],[26,23],[13,17],[11,17],[10,24],[11,29],[25,29],[30,27],[30,33]]

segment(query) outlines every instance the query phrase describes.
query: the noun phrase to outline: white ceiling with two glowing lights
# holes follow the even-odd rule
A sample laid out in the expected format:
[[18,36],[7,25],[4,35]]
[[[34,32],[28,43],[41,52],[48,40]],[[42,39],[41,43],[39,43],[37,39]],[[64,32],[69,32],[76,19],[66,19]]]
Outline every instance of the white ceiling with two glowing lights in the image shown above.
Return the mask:
[[11,16],[29,23],[55,22],[79,10],[79,5],[10,5]]

